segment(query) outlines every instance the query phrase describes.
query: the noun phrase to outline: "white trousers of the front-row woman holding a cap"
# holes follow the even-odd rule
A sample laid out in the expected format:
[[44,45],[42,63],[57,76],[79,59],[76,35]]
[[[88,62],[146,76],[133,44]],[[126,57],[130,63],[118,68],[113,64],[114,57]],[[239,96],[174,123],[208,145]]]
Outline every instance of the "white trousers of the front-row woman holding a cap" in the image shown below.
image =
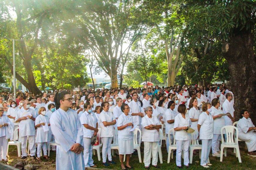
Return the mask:
[[188,166],[188,163],[189,163],[188,149],[189,149],[190,140],[176,140],[176,145],[177,145],[176,165],[181,166],[182,144],[183,144],[183,153],[184,153],[184,165]]

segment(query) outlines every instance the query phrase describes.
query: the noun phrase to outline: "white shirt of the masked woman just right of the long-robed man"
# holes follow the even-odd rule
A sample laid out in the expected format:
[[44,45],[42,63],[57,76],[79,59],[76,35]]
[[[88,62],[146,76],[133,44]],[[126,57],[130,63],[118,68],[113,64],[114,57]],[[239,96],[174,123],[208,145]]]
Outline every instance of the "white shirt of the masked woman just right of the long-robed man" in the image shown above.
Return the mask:
[[80,122],[83,126],[83,137],[92,138],[94,130],[87,129],[84,127],[84,124],[88,124],[89,126],[96,128],[98,119],[96,118],[95,114],[93,112],[91,114],[89,114],[87,111],[83,112],[80,117]]

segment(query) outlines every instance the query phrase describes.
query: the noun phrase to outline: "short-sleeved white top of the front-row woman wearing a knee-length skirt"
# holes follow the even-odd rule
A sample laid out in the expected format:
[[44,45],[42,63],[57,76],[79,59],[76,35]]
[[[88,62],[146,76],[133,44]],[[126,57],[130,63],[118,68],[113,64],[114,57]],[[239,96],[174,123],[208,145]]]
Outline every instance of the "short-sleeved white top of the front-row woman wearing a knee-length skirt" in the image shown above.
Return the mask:
[[[132,115],[125,115],[122,113],[118,118],[117,127],[124,126],[127,123],[132,123]],[[133,132],[130,132],[132,126],[127,126],[122,130],[118,130],[118,139],[120,140],[132,140],[133,139]]]

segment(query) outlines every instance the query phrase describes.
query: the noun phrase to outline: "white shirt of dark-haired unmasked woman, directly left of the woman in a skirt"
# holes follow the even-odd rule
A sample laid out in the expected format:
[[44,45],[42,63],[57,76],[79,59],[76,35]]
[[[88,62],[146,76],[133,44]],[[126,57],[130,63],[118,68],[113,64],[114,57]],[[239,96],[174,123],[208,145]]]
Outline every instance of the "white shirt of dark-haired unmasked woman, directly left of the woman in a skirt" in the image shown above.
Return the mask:
[[100,127],[101,127],[100,137],[113,137],[114,126],[113,125],[104,126],[103,124],[103,122],[112,122],[113,120],[115,120],[112,113],[105,112],[103,110],[99,115],[99,120],[100,120]]

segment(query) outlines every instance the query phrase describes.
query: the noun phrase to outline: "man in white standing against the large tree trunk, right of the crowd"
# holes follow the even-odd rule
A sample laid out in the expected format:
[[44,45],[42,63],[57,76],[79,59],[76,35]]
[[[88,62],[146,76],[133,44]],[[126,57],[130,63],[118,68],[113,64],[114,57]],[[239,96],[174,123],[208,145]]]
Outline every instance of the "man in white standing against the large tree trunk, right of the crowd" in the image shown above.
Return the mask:
[[223,105],[222,105],[222,110],[224,113],[228,113],[228,116],[225,116],[225,126],[227,125],[232,125],[233,122],[235,121],[234,118],[234,107],[231,103],[231,101],[233,100],[233,96],[231,93],[227,93],[226,94],[226,100],[224,101]]

